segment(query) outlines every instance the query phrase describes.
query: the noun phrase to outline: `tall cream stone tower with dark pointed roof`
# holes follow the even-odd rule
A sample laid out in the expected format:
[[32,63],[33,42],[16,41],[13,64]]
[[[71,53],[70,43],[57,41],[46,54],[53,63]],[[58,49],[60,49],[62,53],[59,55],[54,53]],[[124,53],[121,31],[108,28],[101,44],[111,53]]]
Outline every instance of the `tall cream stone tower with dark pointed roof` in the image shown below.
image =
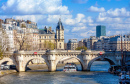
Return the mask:
[[64,49],[64,27],[62,25],[61,19],[56,27],[56,48],[57,49]]

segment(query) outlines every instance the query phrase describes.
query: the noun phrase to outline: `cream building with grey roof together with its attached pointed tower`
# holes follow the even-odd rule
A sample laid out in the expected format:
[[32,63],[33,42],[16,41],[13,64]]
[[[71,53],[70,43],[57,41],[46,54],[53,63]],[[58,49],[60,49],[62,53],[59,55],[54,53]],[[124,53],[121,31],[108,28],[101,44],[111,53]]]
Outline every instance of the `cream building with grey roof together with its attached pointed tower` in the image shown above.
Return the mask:
[[51,27],[39,30],[39,47],[44,49],[64,49],[64,26],[61,19],[56,26],[56,33]]

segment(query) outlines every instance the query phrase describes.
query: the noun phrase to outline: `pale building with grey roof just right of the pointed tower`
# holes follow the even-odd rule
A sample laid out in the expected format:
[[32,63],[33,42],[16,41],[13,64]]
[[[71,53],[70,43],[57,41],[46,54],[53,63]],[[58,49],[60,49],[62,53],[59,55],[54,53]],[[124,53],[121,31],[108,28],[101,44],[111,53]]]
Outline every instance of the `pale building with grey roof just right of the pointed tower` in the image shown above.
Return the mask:
[[78,47],[77,39],[69,39],[67,43],[67,50],[75,50]]

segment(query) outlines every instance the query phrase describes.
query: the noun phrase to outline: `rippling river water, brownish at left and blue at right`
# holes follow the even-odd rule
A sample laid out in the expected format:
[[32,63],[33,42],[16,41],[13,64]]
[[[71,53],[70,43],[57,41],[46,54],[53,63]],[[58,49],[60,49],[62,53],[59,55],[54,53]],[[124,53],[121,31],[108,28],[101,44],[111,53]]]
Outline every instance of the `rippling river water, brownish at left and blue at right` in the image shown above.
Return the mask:
[[[94,62],[90,72],[28,71],[13,73],[0,78],[0,84],[118,84],[118,76],[108,73],[108,62]],[[81,70],[80,65],[78,69]]]

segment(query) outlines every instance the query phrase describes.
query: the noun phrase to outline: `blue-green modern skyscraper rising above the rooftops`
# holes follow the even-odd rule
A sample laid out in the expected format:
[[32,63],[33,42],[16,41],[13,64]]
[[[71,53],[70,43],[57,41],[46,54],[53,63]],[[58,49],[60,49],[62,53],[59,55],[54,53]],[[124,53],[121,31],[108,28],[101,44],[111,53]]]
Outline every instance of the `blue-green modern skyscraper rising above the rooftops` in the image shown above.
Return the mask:
[[96,37],[106,36],[106,26],[98,25],[96,26]]

